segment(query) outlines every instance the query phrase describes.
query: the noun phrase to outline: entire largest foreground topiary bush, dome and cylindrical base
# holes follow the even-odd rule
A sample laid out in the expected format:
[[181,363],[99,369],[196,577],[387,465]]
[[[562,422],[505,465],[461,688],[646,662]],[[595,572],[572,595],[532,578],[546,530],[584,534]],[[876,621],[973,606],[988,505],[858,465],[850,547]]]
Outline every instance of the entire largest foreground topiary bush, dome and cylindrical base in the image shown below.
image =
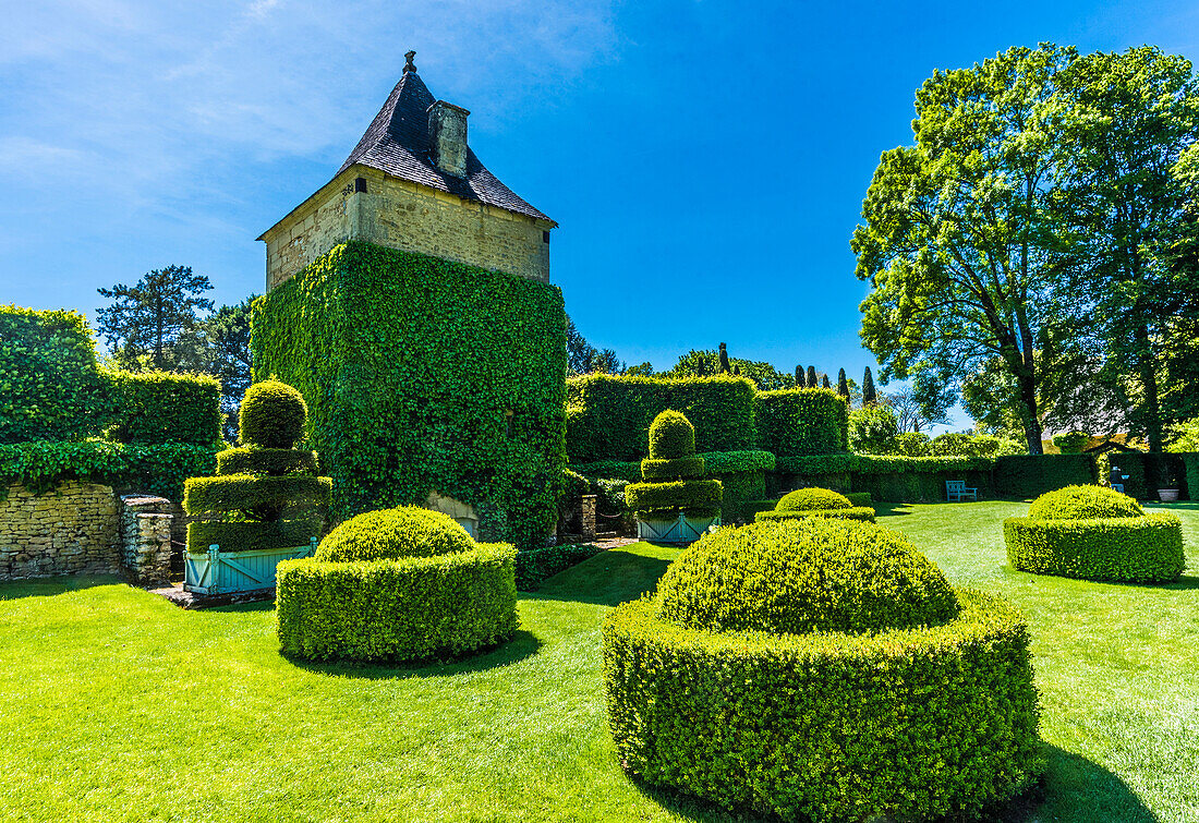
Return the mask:
[[787,819],[968,816],[1042,768],[1028,627],[864,523],[699,540],[603,629],[622,765]]

